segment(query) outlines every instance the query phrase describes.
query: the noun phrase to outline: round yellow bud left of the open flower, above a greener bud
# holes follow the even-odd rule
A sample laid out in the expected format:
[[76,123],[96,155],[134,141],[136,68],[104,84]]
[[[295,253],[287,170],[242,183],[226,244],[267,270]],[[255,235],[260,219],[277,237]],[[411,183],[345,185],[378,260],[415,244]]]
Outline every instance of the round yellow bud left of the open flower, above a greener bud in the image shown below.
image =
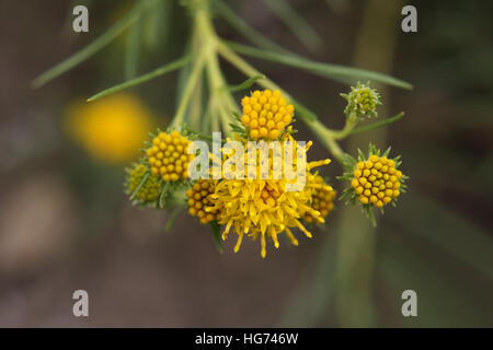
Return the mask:
[[188,177],[188,162],[194,158],[186,149],[191,141],[179,131],[160,132],[147,149],[152,175],[160,175],[164,182]]

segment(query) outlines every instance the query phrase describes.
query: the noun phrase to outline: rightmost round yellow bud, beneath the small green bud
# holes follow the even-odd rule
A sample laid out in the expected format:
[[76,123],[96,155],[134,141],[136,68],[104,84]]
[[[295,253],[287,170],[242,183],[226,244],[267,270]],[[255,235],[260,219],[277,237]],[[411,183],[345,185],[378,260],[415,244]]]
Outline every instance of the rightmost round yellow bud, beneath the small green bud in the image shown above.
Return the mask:
[[363,205],[381,208],[400,195],[402,172],[387,156],[371,155],[366,162],[358,162],[353,174],[351,186]]

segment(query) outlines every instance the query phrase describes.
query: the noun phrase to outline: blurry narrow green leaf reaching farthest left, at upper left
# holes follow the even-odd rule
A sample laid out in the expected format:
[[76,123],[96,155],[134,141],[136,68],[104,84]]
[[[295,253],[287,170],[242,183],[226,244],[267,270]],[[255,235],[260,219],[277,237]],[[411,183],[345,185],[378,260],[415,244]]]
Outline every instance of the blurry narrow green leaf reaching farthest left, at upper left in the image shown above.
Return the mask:
[[91,44],[37,77],[32,83],[33,88],[37,89],[46,84],[96,54],[103,47],[113,42],[113,39],[121,35],[126,28],[128,28],[139,18],[140,13],[140,10],[137,10],[137,8],[130,10],[127,15],[121,19]]

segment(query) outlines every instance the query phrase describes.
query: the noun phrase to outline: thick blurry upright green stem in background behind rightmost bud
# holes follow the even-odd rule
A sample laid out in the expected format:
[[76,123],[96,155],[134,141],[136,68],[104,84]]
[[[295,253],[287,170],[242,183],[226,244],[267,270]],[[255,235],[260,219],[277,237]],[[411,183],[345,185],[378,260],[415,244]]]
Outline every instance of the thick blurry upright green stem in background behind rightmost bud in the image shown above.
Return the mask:
[[[397,22],[401,1],[368,0],[359,28],[356,44],[355,66],[366,65],[367,68],[390,72],[397,40]],[[378,25],[375,25],[378,23]],[[378,42],[372,38],[378,37]],[[369,57],[371,52],[372,57]],[[379,86],[382,91],[385,86]],[[389,96],[389,94],[386,94]],[[387,108],[387,101],[383,108]],[[380,121],[387,125],[395,121],[403,114]],[[377,125],[378,126],[378,125]],[[363,131],[371,130],[371,126],[363,127]],[[349,139],[348,149],[367,144],[368,133]],[[371,140],[377,144],[386,144],[386,131],[379,129],[371,132]],[[334,230],[336,234],[336,270],[333,285],[335,287],[335,311],[337,324],[343,327],[375,326],[372,281],[375,265],[376,230],[355,211],[358,209],[346,206]]]

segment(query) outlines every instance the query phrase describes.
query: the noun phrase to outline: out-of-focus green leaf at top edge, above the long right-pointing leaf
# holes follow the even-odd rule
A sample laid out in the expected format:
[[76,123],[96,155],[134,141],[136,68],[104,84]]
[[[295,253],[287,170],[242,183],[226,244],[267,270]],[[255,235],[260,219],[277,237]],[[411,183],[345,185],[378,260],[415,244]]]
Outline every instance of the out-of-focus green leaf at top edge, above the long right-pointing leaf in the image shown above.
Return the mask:
[[316,50],[322,46],[323,42],[320,35],[288,1],[264,0],[264,2],[309,50]]

